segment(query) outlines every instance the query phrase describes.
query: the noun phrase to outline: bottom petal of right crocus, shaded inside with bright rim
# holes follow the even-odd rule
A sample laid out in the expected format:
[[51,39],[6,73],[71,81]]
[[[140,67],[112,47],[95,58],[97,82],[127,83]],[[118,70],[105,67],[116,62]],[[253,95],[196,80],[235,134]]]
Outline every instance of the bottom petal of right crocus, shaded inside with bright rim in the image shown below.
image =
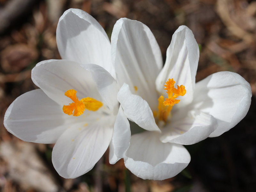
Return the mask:
[[142,179],[164,180],[187,167],[190,155],[182,145],[162,143],[157,132],[132,135],[125,166]]

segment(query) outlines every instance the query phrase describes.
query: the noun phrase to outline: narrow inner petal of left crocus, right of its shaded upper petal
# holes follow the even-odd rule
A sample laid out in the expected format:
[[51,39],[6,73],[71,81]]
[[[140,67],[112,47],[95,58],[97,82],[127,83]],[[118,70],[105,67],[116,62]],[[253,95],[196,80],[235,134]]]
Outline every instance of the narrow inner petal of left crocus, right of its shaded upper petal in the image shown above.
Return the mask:
[[92,78],[97,86],[97,89],[106,102],[110,110],[117,114],[118,101],[117,101],[117,85],[116,80],[104,68],[95,64],[81,65],[84,69],[91,72]]

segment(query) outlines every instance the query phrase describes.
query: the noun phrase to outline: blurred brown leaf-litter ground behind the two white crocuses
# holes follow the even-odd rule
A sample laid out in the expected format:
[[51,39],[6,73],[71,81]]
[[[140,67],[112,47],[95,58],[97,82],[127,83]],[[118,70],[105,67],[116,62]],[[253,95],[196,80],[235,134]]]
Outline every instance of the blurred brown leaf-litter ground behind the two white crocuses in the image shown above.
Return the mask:
[[[20,141],[3,125],[12,101],[36,88],[31,69],[60,59],[56,26],[68,8],[89,12],[111,36],[121,17],[139,20],[156,36],[163,53],[173,32],[187,25],[200,46],[199,81],[233,71],[252,87],[247,116],[229,132],[187,146],[191,163],[178,176],[142,180],[108,152],[87,174],[63,179],[51,162],[53,145]],[[204,192],[256,190],[256,1],[251,0],[0,0],[0,189],[18,191]]]

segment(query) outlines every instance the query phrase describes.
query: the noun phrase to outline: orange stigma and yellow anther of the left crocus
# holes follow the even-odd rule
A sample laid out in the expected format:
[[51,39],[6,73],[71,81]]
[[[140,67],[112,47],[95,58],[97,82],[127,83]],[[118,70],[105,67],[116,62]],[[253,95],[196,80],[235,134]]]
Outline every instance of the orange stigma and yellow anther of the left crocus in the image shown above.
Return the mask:
[[[78,100],[76,97],[76,90],[69,89],[65,92],[65,96],[69,97],[73,103],[69,103],[68,105],[63,105],[63,112],[68,115],[80,116],[84,113],[85,109],[90,111],[97,111],[103,104],[91,97],[86,97],[81,100]],[[74,113],[73,113],[74,111]]]

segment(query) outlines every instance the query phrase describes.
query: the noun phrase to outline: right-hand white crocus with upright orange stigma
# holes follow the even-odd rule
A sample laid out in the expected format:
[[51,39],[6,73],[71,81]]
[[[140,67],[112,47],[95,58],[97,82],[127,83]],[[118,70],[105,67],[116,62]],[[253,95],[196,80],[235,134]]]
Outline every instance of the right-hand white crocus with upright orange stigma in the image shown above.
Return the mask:
[[249,109],[251,87],[236,73],[218,72],[195,83],[199,49],[186,26],[173,34],[164,67],[152,32],[135,20],[116,22],[111,53],[121,87],[117,99],[125,116],[147,131],[133,134],[129,143],[129,122],[114,128],[110,163],[124,158],[138,177],[175,176],[190,161],[182,144],[221,135]]

